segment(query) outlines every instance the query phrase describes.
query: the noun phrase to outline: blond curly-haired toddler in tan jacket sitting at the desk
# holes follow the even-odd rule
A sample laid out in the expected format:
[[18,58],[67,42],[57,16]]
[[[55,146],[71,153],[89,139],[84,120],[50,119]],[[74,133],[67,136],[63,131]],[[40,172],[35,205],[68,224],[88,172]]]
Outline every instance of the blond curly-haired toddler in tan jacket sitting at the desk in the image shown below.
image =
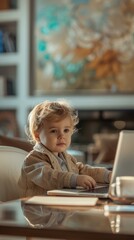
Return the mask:
[[19,179],[24,196],[109,183],[111,172],[106,168],[84,165],[67,153],[78,122],[77,112],[62,100],[44,101],[30,112],[27,133],[35,145],[24,161]]

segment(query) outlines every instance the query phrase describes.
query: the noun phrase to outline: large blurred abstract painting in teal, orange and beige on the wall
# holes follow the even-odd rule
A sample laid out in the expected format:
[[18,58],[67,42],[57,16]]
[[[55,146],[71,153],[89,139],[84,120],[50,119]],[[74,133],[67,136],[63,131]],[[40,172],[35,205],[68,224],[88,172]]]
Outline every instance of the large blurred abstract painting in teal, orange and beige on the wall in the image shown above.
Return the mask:
[[133,0],[35,0],[33,94],[134,92]]

